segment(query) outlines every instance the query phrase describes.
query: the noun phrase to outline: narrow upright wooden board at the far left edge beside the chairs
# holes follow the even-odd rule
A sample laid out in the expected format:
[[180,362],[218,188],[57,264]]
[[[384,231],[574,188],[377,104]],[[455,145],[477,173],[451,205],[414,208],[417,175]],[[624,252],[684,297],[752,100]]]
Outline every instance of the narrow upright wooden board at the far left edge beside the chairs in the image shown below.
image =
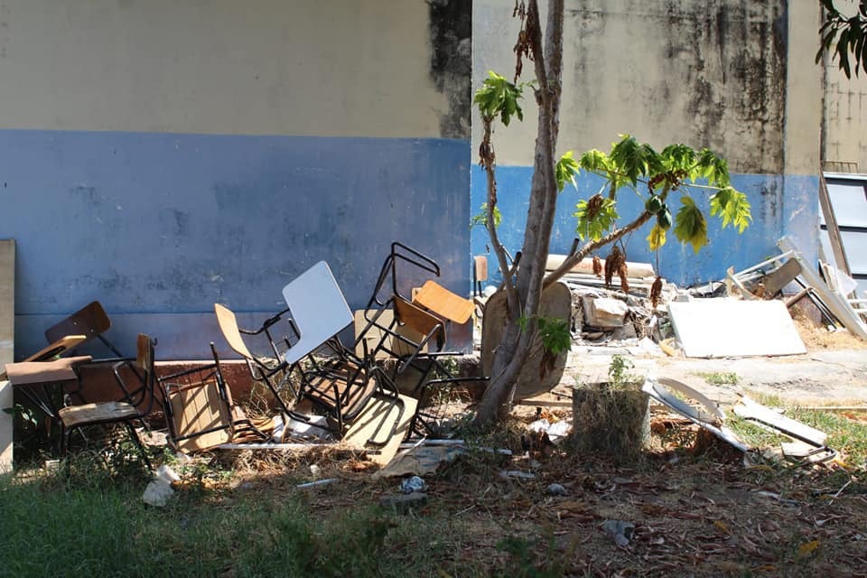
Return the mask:
[[[15,241],[0,240],[0,370],[14,361]],[[0,380],[0,409],[12,407],[12,386]],[[0,411],[0,473],[12,470],[13,416]]]

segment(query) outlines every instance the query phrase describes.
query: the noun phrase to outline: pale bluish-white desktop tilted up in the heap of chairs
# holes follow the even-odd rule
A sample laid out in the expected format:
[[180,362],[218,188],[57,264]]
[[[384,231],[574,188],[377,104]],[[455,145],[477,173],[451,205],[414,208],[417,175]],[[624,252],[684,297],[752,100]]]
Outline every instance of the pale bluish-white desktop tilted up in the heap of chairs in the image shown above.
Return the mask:
[[283,298],[300,333],[299,340],[285,353],[289,365],[319,349],[352,322],[350,306],[325,261],[287,284]]

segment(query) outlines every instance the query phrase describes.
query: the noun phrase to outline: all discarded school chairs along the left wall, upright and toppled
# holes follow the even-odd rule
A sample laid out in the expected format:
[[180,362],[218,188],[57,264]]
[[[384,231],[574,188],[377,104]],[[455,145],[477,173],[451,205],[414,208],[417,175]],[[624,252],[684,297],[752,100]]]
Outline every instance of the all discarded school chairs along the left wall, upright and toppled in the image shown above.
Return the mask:
[[[356,315],[324,261],[285,285],[286,307],[256,329],[241,328],[235,312],[216,303],[224,339],[245,360],[252,382],[270,391],[279,412],[274,418],[248,417],[235,404],[213,342],[212,362],[161,377],[148,336],[138,337],[135,358],[123,357],[103,336],[111,323],[98,302],[46,331],[51,345],[8,364],[8,379],[60,424],[61,452],[74,431],[87,440],[86,426],[125,424],[147,461],[134,424],[146,426],[161,409],[169,442],[182,452],[347,440],[374,455],[393,455],[406,438],[442,433],[451,399],[442,392],[457,383],[443,363],[453,355],[445,350],[446,328],[468,322],[473,304],[437,284],[432,277],[439,275],[433,259],[393,243]],[[346,346],[340,334],[353,324],[356,339]],[[62,357],[94,339],[117,357]],[[267,354],[254,354],[254,344],[267,344]],[[117,395],[107,396],[100,367],[108,368]],[[93,391],[99,401],[89,400]]]

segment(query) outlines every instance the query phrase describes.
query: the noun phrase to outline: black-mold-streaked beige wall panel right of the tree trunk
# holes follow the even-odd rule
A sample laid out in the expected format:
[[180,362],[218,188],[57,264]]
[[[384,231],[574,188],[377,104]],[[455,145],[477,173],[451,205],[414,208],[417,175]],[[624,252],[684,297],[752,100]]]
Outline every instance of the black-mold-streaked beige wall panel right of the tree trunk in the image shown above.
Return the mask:
[[783,171],[787,2],[582,0],[568,18],[577,131],[621,118],[620,132],[708,146],[733,172]]

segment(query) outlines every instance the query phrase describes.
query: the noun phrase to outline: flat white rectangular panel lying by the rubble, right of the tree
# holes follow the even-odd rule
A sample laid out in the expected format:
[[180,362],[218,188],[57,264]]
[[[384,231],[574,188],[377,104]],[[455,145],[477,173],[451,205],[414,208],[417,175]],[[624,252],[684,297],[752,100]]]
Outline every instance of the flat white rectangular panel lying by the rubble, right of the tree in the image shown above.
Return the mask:
[[668,303],[688,358],[739,358],[806,353],[781,301],[695,299]]

